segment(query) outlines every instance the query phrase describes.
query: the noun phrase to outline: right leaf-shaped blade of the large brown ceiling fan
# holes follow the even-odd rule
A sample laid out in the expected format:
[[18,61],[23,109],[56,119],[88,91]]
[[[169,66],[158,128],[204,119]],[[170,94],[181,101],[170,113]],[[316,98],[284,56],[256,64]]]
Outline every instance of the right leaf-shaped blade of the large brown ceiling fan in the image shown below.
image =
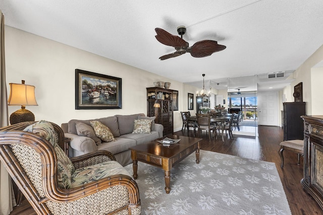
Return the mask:
[[222,51],[226,48],[225,45],[218,44],[214,40],[201,40],[187,49],[187,52],[191,53],[191,56],[195,58],[203,58],[212,55],[217,51]]

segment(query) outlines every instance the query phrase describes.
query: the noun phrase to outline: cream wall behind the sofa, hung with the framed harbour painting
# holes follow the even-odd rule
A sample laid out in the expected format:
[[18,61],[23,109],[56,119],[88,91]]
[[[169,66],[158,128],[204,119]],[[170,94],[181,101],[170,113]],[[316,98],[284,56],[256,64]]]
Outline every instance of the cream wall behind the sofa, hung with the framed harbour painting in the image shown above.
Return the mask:
[[[5,27],[6,81],[34,85],[38,106],[27,106],[35,120],[58,125],[71,119],[95,119],[114,116],[147,114],[146,87],[155,81],[171,82],[179,91],[179,111],[174,112],[174,130],[182,128],[183,83],[131,67],[93,53]],[[75,110],[75,69],[122,78],[122,109]],[[194,91],[195,92],[195,91]],[[185,105],[185,109],[187,105]],[[9,106],[9,113],[20,109]]]

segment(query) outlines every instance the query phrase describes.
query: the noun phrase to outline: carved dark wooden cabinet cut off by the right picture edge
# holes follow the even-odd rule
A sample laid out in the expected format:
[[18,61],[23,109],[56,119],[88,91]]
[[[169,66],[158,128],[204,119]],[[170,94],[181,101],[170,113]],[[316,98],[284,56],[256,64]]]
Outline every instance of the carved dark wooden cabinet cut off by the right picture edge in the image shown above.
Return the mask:
[[323,209],[323,116],[303,116],[304,178],[301,184]]

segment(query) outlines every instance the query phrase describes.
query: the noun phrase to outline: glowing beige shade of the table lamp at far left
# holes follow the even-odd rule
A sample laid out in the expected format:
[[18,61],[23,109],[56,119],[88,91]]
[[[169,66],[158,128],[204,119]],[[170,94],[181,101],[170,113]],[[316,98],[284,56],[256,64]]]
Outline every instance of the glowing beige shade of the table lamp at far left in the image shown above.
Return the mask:
[[26,84],[10,83],[8,105],[38,105],[35,98],[35,87]]

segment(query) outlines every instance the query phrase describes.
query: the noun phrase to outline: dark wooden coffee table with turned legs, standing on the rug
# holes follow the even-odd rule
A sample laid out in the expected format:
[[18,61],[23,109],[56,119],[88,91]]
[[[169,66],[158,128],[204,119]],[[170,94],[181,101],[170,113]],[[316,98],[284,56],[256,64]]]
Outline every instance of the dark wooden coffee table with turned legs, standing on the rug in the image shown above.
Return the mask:
[[171,170],[173,166],[180,163],[185,157],[195,151],[196,164],[199,163],[200,143],[201,138],[185,137],[178,135],[168,135],[172,139],[181,139],[178,143],[165,146],[157,140],[148,143],[130,147],[131,159],[133,160],[133,177],[137,179],[138,160],[140,162],[159,167],[165,171],[165,190],[170,193],[171,188]]

